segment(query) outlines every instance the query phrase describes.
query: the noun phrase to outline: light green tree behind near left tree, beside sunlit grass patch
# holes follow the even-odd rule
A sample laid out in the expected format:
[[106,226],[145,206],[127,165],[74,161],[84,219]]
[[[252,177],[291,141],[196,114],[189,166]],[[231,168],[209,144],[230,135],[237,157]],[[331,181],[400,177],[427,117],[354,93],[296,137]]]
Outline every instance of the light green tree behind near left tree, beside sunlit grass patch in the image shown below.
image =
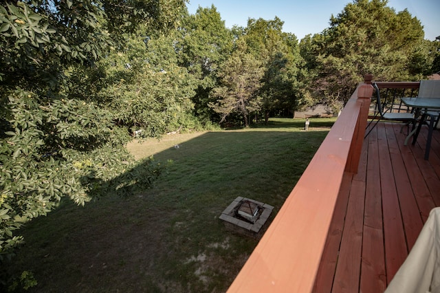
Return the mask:
[[124,47],[110,52],[96,68],[76,67],[72,79],[87,76],[85,84],[93,87],[73,83],[66,94],[99,101],[116,124],[136,137],[197,128],[191,101],[197,82],[178,64],[179,34],[146,34],[142,29],[126,34]]

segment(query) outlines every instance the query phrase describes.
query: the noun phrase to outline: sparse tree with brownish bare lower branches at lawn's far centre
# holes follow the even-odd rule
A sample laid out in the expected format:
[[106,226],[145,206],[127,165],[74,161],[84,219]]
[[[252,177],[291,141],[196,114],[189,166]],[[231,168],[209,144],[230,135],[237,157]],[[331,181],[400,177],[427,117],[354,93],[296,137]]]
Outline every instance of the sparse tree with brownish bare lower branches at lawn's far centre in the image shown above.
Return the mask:
[[210,107],[221,114],[221,122],[231,113],[243,116],[245,127],[249,126],[249,114],[261,107],[261,101],[256,92],[261,87],[263,68],[252,54],[247,52],[247,46],[241,39],[236,41],[236,49],[223,65],[218,76],[221,86],[213,90],[217,102]]

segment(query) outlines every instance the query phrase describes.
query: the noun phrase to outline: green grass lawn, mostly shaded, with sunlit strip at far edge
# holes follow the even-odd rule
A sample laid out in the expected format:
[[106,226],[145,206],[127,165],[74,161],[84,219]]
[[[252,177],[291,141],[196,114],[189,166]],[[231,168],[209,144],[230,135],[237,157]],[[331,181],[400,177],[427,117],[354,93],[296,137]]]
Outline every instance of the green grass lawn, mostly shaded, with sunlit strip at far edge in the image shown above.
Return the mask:
[[[11,271],[32,270],[31,292],[225,292],[257,239],[219,215],[238,196],[283,205],[335,119],[272,119],[233,131],[134,142],[136,158],[173,160],[152,188],[129,199],[65,203],[22,233]],[[179,144],[179,148],[173,147]]]

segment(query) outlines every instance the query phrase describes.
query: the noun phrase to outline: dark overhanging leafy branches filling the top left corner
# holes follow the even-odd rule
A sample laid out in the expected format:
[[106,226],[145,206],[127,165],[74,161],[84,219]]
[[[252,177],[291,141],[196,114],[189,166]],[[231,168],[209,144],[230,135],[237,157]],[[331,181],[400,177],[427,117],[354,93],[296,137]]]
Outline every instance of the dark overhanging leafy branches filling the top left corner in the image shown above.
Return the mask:
[[93,63],[141,24],[156,33],[175,28],[184,9],[178,0],[10,1],[0,6],[0,78],[55,87],[66,66]]

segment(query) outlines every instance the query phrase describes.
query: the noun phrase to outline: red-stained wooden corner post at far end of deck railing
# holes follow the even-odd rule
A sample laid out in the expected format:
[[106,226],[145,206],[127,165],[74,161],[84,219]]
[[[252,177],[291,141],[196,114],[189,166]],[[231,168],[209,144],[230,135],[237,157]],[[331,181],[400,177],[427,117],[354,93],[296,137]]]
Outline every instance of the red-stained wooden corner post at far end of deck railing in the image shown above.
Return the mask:
[[364,135],[366,122],[369,116],[369,108],[371,96],[373,95],[373,85],[371,85],[373,76],[366,74],[364,76],[364,84],[358,87],[358,100],[356,101],[360,107],[356,129],[350,146],[350,154],[345,171],[350,173],[358,173],[360,155],[362,152],[362,144],[364,143]]

